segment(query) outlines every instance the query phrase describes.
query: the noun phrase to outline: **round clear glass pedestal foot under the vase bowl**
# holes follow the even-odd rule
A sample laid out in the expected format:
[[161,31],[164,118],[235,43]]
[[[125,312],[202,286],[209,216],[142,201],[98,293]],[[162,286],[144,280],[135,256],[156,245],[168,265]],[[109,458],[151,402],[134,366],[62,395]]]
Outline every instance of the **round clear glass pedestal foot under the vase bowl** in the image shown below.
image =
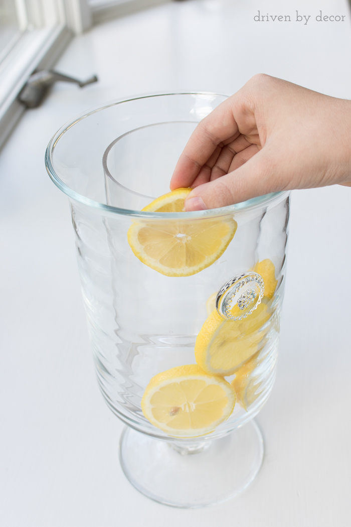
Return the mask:
[[238,495],[255,479],[263,438],[254,421],[213,441],[162,441],[125,428],[123,471],[154,501],[180,508],[214,505]]

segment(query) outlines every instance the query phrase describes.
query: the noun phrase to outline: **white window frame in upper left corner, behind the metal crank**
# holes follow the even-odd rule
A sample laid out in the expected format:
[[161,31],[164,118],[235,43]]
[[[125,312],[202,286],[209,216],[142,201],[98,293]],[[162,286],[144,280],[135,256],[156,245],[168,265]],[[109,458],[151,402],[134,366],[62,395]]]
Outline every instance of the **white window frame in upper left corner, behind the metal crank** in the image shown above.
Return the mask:
[[92,25],[172,0],[14,0],[21,35],[0,62],[0,148],[25,111],[29,76],[54,66],[74,35]]

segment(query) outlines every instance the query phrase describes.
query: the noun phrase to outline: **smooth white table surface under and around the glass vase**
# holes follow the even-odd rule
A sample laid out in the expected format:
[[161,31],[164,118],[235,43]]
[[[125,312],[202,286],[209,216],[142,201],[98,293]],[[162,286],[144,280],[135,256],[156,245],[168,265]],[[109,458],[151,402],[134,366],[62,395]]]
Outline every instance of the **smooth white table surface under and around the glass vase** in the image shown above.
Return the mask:
[[[269,14],[342,23],[257,23]],[[257,422],[265,458],[236,500],[167,508],[118,463],[123,425],[100,395],[67,198],[49,180],[54,132],[91,106],[175,89],[233,93],[265,72],[351,96],[346,0],[188,0],[96,26],[57,64],[97,84],[57,84],[0,154],[0,523],[6,527],[346,527],[351,469],[351,188],[293,192],[278,375]]]

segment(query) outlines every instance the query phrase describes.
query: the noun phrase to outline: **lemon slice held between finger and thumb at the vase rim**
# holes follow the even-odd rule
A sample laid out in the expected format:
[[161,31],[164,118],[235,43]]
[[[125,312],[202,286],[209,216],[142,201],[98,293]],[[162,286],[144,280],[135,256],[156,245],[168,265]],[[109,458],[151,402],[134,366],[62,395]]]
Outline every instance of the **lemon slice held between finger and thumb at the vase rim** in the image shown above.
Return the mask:
[[[182,212],[192,189],[177,189],[147,205],[146,212]],[[138,220],[128,242],[143,264],[166,276],[190,276],[215,262],[237,228],[233,218]]]

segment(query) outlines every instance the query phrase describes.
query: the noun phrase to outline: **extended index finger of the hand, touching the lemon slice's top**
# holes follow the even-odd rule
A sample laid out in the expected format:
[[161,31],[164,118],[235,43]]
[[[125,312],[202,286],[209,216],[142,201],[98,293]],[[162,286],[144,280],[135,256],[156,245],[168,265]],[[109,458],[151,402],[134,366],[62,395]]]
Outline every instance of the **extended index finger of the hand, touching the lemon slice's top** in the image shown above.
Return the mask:
[[223,146],[223,141],[232,142],[238,137],[240,133],[232,105],[230,97],[197,125],[177,162],[170,184],[172,190],[191,187],[204,165],[209,166],[208,161],[218,145]]

